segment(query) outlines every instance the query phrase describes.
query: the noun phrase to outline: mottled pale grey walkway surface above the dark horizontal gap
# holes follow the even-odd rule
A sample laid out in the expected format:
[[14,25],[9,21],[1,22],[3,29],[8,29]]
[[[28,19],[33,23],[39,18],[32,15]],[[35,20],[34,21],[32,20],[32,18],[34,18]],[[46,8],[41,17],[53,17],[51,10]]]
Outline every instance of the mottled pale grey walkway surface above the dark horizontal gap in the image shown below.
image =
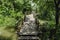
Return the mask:
[[35,24],[35,18],[33,14],[26,15],[25,22],[23,23],[20,33],[23,35],[35,34],[37,33],[36,28],[37,26]]

